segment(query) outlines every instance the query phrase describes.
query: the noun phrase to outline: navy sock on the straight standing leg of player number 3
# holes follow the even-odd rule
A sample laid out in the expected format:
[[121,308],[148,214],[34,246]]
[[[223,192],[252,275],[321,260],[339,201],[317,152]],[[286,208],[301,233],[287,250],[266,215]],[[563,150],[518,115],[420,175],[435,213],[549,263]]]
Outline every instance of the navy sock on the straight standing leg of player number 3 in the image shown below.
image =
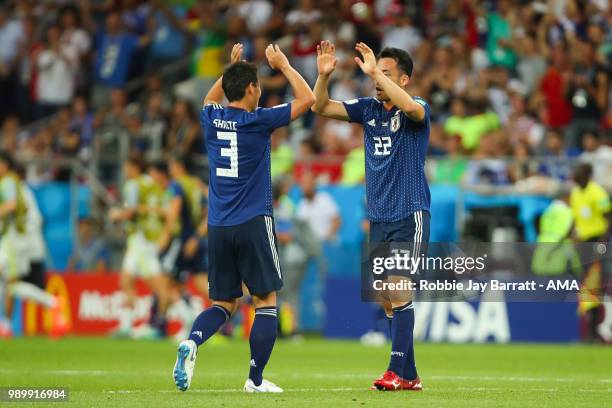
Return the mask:
[[255,385],[261,385],[263,370],[270,359],[276,332],[278,318],[276,307],[267,306],[255,309],[255,321],[251,328],[249,344],[251,345],[251,369],[249,378]]

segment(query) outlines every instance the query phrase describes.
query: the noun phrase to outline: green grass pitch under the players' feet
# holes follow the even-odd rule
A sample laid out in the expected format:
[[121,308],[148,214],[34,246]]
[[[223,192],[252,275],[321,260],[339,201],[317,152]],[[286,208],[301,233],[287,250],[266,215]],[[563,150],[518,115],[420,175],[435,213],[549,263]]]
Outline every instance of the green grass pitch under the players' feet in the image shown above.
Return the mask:
[[612,406],[612,348],[605,346],[417,344],[424,390],[378,392],[368,387],[386,368],[388,346],[279,341],[265,372],[285,389],[276,395],[242,392],[249,352],[238,340],[203,346],[191,389],[179,392],[171,378],[175,350],[169,341],[0,341],[0,387],[68,387],[70,401],[55,407]]

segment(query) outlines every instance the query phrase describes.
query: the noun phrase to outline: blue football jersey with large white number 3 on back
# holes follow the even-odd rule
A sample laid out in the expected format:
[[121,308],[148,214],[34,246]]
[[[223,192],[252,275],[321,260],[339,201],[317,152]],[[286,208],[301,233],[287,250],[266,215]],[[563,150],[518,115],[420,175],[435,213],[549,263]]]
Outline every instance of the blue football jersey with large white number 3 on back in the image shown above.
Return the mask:
[[210,225],[233,226],[258,215],[272,216],[270,133],[290,121],[290,104],[253,112],[218,104],[202,109]]

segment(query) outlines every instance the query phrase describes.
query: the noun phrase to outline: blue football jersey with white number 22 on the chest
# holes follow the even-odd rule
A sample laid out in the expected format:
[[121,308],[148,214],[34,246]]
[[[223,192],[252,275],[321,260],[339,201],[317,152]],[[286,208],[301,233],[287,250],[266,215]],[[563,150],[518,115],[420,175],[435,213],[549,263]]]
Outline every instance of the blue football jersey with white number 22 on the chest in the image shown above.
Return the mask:
[[368,218],[373,222],[402,220],[416,211],[429,211],[425,156],[429,144],[429,105],[425,118],[415,122],[397,107],[385,109],[376,98],[344,102],[351,122],[364,128]]

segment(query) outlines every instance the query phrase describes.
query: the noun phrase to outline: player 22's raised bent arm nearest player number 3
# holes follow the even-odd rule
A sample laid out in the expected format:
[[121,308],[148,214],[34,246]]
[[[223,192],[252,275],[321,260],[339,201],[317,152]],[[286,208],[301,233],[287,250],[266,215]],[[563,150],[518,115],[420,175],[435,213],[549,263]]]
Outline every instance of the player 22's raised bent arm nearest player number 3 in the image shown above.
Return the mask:
[[314,87],[315,103],[312,111],[327,118],[349,120],[348,112],[344,104],[329,99],[329,78],[336,69],[338,59],[336,58],[336,46],[329,41],[321,41],[317,45],[317,68],[319,76]]

